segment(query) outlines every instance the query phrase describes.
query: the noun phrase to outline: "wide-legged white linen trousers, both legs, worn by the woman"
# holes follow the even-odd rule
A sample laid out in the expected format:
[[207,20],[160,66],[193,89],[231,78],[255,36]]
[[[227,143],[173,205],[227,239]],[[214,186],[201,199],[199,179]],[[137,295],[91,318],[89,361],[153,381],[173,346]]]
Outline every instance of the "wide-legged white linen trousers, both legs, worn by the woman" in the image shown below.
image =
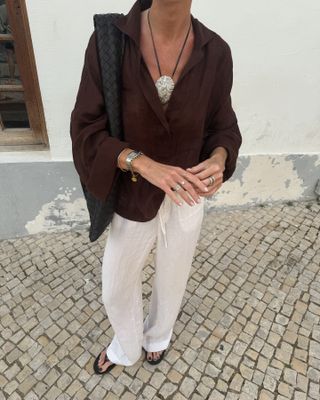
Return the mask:
[[[133,365],[169,345],[199,238],[204,197],[178,206],[166,194],[156,217],[132,221],[114,213],[102,260],[102,301],[114,331],[110,361]],[[149,313],[143,321],[142,270],[156,242]]]

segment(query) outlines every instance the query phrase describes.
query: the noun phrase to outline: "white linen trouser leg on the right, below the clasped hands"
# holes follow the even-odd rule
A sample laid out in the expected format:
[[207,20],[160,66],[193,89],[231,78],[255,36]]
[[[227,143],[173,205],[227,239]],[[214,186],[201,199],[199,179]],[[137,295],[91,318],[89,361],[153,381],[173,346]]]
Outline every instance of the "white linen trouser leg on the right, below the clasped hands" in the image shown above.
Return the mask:
[[168,247],[165,247],[158,224],[155,275],[143,332],[143,347],[147,351],[160,351],[169,345],[186,289],[203,214],[203,197],[201,203],[195,206],[183,202],[179,207],[172,202],[166,224]]

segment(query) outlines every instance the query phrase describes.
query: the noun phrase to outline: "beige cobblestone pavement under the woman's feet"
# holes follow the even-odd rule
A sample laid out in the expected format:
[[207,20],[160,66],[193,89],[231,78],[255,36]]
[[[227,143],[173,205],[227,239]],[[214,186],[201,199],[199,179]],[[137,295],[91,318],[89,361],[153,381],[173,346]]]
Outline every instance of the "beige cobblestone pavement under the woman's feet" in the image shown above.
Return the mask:
[[[0,399],[320,399],[320,205],[205,215],[164,360],[95,375],[107,232],[0,242]],[[145,314],[153,277],[143,274]]]

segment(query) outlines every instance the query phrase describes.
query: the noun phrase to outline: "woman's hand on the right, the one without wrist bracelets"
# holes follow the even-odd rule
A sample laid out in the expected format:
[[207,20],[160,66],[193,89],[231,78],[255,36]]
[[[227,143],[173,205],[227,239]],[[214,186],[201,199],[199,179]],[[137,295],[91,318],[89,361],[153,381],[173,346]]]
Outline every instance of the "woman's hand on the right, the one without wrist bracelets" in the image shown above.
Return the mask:
[[[222,186],[223,171],[225,170],[225,161],[220,155],[215,154],[210,158],[202,161],[187,171],[195,174],[208,187],[208,192],[202,192],[199,188],[195,188],[199,196],[212,196]],[[213,185],[210,185],[209,177],[214,177]]]

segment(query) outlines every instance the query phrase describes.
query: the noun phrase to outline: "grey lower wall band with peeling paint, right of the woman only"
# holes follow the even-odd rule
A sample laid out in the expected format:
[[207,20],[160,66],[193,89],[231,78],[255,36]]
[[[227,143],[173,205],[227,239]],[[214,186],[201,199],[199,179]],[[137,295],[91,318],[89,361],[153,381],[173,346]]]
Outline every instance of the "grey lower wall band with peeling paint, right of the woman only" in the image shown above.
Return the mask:
[[319,177],[318,155],[240,157],[234,176],[207,198],[206,208],[314,197],[314,185]]

